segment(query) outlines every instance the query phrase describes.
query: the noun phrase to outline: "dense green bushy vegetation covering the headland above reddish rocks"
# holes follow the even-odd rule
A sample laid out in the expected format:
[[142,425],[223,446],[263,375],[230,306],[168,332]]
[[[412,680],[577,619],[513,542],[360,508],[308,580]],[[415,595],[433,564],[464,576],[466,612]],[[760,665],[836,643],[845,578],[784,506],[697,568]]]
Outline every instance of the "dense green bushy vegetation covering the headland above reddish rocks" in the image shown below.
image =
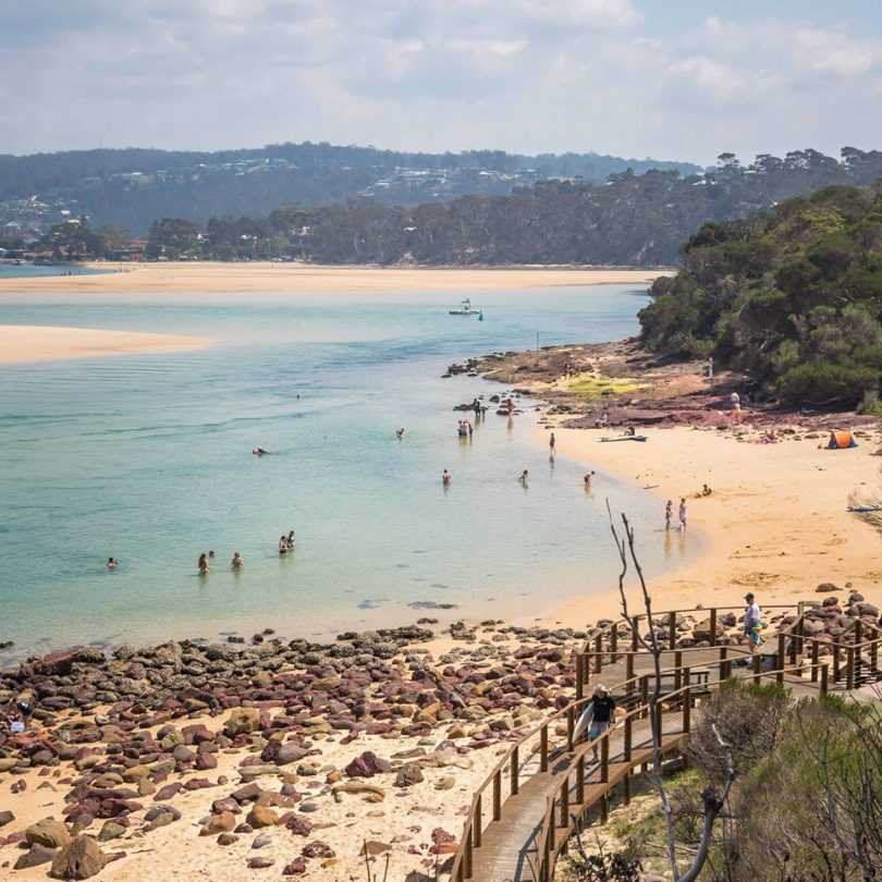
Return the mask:
[[740,370],[785,402],[861,404],[882,380],[882,185],[707,223],[652,285],[641,341]]

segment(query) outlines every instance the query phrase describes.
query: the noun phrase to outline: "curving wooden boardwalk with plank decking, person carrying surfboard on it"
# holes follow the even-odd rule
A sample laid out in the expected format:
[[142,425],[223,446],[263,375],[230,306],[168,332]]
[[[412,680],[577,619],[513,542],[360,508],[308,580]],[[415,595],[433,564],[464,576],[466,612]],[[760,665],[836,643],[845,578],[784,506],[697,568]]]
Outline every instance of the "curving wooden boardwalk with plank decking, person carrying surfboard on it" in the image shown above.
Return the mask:
[[[722,657],[725,657],[725,661],[721,661]],[[769,677],[775,675],[780,658],[771,650],[761,661],[738,666],[746,665],[748,659],[743,650],[733,648],[722,653],[719,648],[665,652],[662,666],[669,670],[663,684],[664,693],[671,695],[671,701],[665,701],[663,706],[662,754],[665,757],[679,755],[688,737],[690,709],[710,695],[721,679],[734,674],[769,682]],[[556,855],[572,833],[572,819],[583,817],[595,806],[600,806],[605,817],[607,801],[613,787],[620,787],[625,800],[629,799],[632,775],[640,773],[652,761],[646,701],[647,675],[651,670],[649,654],[632,654],[630,658],[604,665],[602,673],[592,677],[593,683],[604,683],[610,687],[625,684],[614,689],[621,709],[617,713],[620,721],[608,737],[599,739],[599,763],[591,762],[592,745],[572,744],[575,715],[572,711],[567,735],[561,734],[564,728],[562,724],[554,731],[547,725],[538,747],[534,746],[528,752],[526,742],[522,745],[520,756],[525,757],[525,762],[515,772],[516,784],[511,786],[517,754],[512,758],[513,768],[501,773],[510,781],[511,795],[502,800],[502,782],[498,780],[491,820],[486,826],[478,804],[476,821],[470,831],[467,829],[463,855],[457,855],[461,860],[454,866],[454,882],[548,882],[550,868],[553,868]],[[776,679],[786,683],[787,688],[797,696],[818,695],[821,690],[821,677],[817,671],[812,673],[812,679],[795,670],[786,674],[777,672]],[[825,678],[823,687],[826,687]],[[684,693],[684,689],[688,691]],[[587,700],[583,699],[584,702]],[[576,711],[579,709],[577,707]],[[624,721],[621,720],[623,715]],[[560,718],[559,723],[562,721],[563,718]],[[556,744],[549,743],[552,737],[555,737]],[[544,770],[541,769],[542,759],[546,760]]]

